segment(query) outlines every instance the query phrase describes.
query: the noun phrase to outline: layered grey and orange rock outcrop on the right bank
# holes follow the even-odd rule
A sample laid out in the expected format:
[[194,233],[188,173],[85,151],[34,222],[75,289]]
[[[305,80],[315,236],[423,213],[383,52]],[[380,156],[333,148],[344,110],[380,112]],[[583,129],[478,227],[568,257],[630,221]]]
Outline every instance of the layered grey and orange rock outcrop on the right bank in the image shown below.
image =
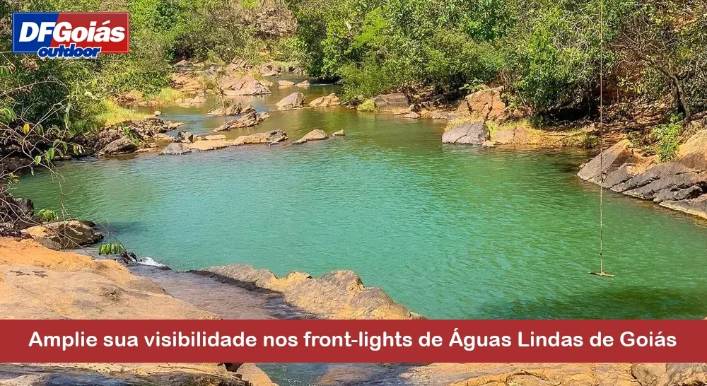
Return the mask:
[[680,146],[677,159],[655,163],[636,156],[624,140],[585,163],[577,175],[614,192],[707,218],[706,144],[707,131],[699,131]]

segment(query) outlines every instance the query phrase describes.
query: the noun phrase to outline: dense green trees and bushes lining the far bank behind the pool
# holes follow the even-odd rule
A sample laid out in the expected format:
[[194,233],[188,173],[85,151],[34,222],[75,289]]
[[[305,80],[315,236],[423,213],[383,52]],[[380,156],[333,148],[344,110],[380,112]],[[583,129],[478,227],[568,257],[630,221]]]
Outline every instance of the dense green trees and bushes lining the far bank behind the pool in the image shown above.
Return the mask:
[[[131,53],[11,54],[11,11],[129,11]],[[698,0],[9,0],[0,125],[6,138],[45,139],[32,156],[71,152],[55,139],[100,127],[111,95],[158,93],[180,59],[241,57],[300,62],[354,102],[392,90],[452,101],[487,83],[531,115],[576,119],[597,113],[601,87],[614,117],[652,106],[653,126],[679,117],[672,132],[707,110],[706,14]]]

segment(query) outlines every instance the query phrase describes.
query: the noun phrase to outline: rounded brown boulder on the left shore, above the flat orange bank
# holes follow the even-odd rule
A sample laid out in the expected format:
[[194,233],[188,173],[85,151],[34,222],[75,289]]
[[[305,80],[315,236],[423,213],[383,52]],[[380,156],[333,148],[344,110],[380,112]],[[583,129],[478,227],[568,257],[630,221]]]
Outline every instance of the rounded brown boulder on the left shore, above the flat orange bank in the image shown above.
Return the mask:
[[76,220],[33,226],[23,230],[23,233],[52,250],[93,244],[103,239],[102,234],[93,230],[86,223]]

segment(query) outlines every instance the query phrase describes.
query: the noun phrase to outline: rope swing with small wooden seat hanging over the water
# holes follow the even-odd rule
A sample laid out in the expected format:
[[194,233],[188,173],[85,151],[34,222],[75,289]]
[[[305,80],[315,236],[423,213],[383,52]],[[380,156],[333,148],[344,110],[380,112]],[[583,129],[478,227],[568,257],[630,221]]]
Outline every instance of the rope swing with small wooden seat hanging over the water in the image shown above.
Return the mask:
[[590,275],[614,277],[604,272],[604,0],[599,6],[599,172],[601,173],[599,185],[599,271],[590,272]]

